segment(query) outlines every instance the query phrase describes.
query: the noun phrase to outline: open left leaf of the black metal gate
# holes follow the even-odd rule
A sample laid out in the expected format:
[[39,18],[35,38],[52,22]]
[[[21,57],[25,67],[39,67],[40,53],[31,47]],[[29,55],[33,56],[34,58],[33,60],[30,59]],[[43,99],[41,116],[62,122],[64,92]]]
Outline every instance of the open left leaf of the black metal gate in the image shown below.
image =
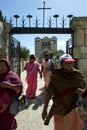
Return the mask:
[[10,37],[10,61],[12,70],[20,76],[20,42],[14,37]]

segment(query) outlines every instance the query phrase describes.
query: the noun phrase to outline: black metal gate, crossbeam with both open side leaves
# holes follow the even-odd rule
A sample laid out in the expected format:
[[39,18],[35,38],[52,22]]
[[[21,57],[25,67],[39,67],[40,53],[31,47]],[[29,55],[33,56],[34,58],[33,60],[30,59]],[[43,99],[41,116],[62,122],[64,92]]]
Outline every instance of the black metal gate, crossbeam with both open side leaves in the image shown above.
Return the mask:
[[[12,27],[9,35],[13,34],[73,34],[74,31],[71,28],[57,28],[57,27]],[[69,41],[67,41],[67,51],[70,51]],[[68,50],[69,49],[69,50]],[[20,73],[20,42],[11,38],[10,59],[12,62],[12,68],[18,74]],[[67,52],[68,53],[68,52]],[[69,52],[70,53],[70,52]],[[72,54],[73,55],[73,51]],[[11,57],[12,56],[12,57]],[[17,63],[16,63],[17,62]],[[15,64],[14,64],[15,63]]]

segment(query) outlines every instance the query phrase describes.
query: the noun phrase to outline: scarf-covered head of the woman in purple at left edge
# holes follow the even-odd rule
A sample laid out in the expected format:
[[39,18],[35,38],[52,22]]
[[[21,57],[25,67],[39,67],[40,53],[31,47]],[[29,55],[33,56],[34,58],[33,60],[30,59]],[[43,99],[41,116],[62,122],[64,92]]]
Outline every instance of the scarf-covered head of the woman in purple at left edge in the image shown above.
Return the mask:
[[0,73],[6,73],[11,70],[10,61],[7,59],[0,60]]

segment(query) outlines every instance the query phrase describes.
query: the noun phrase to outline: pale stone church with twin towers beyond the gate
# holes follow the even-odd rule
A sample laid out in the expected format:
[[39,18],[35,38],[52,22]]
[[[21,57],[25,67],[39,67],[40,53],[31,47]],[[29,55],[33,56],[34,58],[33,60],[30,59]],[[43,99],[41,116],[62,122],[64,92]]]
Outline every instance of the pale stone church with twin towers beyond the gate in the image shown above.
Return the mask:
[[57,51],[57,38],[55,36],[48,38],[35,38],[35,55],[36,57],[44,57],[46,53]]

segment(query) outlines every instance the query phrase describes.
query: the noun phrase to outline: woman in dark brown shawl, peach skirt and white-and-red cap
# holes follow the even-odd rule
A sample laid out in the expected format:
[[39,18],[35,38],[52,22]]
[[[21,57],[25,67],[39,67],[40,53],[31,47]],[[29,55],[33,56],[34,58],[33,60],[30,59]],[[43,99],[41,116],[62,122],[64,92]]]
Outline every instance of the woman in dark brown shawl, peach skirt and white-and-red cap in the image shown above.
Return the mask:
[[[78,95],[86,91],[86,83],[82,73],[73,67],[75,60],[69,54],[60,56],[59,61],[61,68],[55,70],[46,89],[42,119],[48,125],[54,116],[54,130],[81,130],[84,123],[76,112],[76,103]],[[51,99],[53,104],[48,112]]]

